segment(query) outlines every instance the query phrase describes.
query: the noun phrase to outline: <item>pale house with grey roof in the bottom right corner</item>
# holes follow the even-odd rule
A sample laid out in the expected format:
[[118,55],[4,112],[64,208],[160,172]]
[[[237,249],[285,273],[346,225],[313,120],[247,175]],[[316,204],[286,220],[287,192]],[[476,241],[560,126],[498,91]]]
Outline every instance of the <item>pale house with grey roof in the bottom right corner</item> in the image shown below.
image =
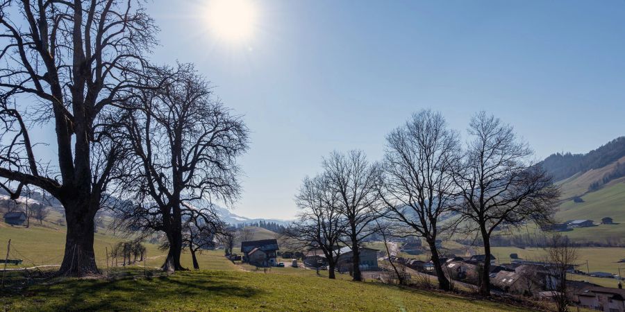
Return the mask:
[[575,293],[578,304],[586,309],[625,312],[625,289],[591,286]]

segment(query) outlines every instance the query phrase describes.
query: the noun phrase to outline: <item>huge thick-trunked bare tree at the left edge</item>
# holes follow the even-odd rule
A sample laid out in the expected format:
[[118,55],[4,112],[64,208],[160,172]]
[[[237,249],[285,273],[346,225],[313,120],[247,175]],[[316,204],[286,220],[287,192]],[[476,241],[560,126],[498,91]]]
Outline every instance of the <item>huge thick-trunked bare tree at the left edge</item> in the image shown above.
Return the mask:
[[[137,87],[137,68],[156,43],[140,2],[0,2],[0,177],[14,198],[30,184],[63,204],[63,275],[98,272],[93,218],[119,157],[103,116],[115,116],[111,110]],[[35,155],[31,136],[48,123],[56,150],[45,155],[55,159]]]

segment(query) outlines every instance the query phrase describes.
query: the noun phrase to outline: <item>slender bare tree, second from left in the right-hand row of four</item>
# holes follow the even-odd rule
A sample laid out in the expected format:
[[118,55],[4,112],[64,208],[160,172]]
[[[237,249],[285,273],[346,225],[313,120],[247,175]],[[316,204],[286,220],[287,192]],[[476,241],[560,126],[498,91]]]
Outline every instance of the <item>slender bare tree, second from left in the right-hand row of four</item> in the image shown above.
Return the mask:
[[337,207],[344,218],[346,243],[353,254],[353,280],[362,281],[360,243],[376,231],[380,166],[369,164],[362,151],[352,150],[347,155],[334,152],[325,157],[323,168],[329,191],[338,197]]

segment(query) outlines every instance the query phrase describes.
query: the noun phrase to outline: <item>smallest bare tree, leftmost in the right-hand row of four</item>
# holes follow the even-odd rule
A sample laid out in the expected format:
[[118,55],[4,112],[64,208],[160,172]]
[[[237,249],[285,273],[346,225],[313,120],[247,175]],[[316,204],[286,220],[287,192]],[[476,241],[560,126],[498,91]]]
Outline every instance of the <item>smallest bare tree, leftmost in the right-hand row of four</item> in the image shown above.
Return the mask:
[[338,193],[328,186],[323,175],[304,178],[297,207],[299,220],[283,231],[283,235],[306,248],[318,248],[328,262],[328,277],[335,279],[335,268],[340,257],[341,236],[346,224],[338,207]]

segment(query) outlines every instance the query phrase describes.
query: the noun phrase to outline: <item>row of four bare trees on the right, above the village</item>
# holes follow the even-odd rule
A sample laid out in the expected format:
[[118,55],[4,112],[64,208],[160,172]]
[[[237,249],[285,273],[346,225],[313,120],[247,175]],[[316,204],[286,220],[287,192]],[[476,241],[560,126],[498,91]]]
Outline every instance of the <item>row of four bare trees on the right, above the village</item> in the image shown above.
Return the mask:
[[513,128],[478,112],[467,141],[442,114],[422,110],[387,135],[383,159],[335,151],[322,159],[322,172],[305,177],[295,196],[296,223],[284,234],[322,250],[335,278],[338,250],[349,246],[353,280],[360,281],[359,248],[376,232],[419,236],[431,251],[439,287],[451,289],[437,241],[476,234],[483,242],[480,293],[490,294],[490,255],[495,229],[528,222],[553,222],[559,189]]

